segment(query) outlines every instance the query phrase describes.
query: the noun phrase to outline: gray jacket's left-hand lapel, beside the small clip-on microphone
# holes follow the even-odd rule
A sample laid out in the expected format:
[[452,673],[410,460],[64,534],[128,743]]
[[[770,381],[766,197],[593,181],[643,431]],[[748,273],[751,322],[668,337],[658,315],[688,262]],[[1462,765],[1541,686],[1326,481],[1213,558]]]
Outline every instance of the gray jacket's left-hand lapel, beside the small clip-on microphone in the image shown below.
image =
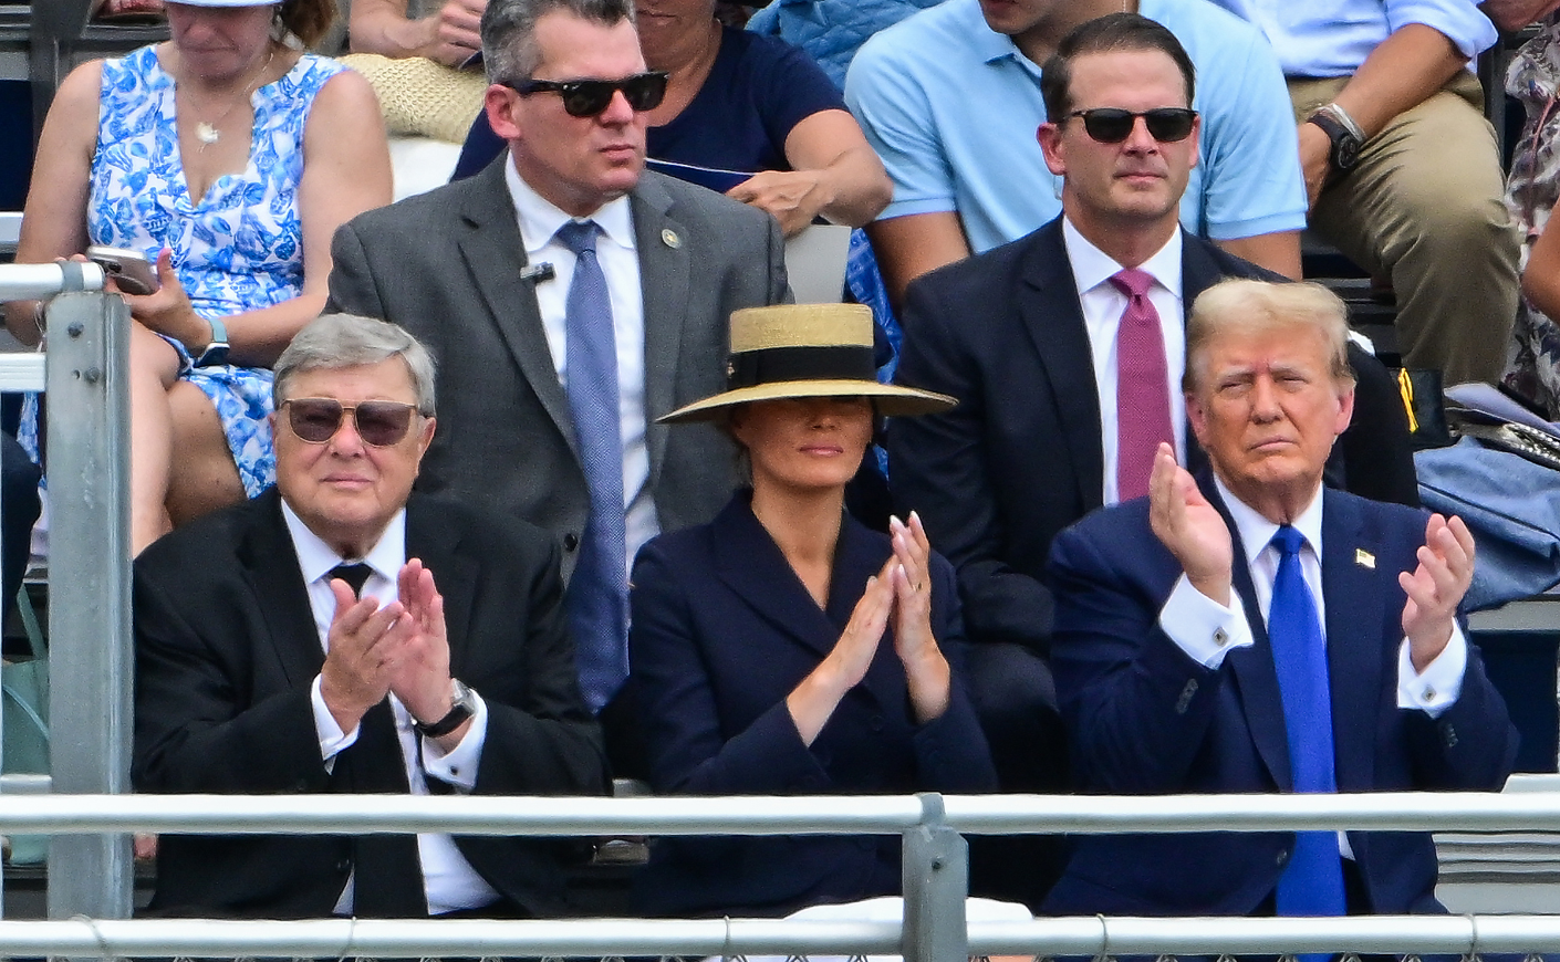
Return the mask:
[[504,184],[504,164],[509,162],[509,153],[504,153],[476,176],[474,189],[466,195],[460,212],[465,231],[457,245],[488,317],[577,460],[574,419],[552,363],[552,348],[541,327],[537,282],[519,276],[526,267],[526,243],[515,220],[515,203]]

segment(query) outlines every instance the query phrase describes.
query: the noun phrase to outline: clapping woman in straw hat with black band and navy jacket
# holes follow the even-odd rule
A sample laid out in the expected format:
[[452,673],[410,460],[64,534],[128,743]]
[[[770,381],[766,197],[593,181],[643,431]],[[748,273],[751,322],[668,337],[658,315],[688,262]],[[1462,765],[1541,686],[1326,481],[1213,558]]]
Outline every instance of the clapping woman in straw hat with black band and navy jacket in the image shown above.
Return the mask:
[[[630,675],[657,792],[987,792],[997,776],[958,681],[952,566],[920,521],[844,513],[875,415],[952,398],[881,385],[872,313],[732,315],[730,390],[663,421],[718,421],[752,471],[707,525],[633,568]],[[658,914],[766,914],[899,892],[897,837],[661,839],[641,875]]]

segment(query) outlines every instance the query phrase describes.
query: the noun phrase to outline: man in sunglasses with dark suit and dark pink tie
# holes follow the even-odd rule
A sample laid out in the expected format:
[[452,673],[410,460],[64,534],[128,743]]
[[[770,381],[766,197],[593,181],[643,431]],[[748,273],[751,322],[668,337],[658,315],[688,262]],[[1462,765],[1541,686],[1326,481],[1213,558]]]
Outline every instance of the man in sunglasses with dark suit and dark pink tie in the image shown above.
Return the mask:
[[[919,511],[931,544],[958,569],[973,642],[970,695],[1009,792],[1067,784],[1045,661],[1053,603],[1041,575],[1058,532],[1117,500],[1114,340],[1126,299],[1109,276],[1122,268],[1154,276],[1148,298],[1165,321],[1172,382],[1181,376],[1173,360],[1181,320],[1200,292],[1231,276],[1278,278],[1181,229],[1197,123],[1178,140],[1159,140],[1147,118],[1131,117],[1128,136],[1109,143],[1073,115],[1184,109],[1192,87],[1186,51],[1153,20],[1112,14],[1075,30],[1042,84],[1058,120],[1041,128],[1041,145],[1062,176],[1062,217],[909,285],[897,379],[959,404],[891,423],[889,485],[895,507]],[[1134,176],[1122,176],[1128,172]],[[1418,504],[1396,385],[1360,348],[1351,345],[1349,359],[1357,416],[1329,479],[1365,497]],[[1179,396],[1175,384],[1164,390]],[[1181,451],[1200,458],[1195,441],[1176,433]],[[978,847],[973,858],[978,867]],[[1036,907],[1044,870],[1030,867],[1019,881],[1030,892],[1002,893]]]

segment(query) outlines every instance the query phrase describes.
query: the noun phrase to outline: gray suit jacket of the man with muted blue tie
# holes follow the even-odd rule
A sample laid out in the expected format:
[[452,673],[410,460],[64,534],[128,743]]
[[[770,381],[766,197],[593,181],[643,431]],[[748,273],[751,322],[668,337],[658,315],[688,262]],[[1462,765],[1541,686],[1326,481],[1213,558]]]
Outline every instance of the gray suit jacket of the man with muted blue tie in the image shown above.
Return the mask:
[[[395,321],[438,362],[438,432],[418,490],[538,524],[574,571],[590,511],[568,398],[521,278],[526,248],[504,164],[359,215],[335,232],[328,310]],[[711,426],[655,418],[725,387],[727,318],[791,298],[778,223],[755,207],[646,172],[629,195],[644,288],[651,496],[661,530],[714,518],[735,485]],[[541,281],[543,284],[546,281]]]

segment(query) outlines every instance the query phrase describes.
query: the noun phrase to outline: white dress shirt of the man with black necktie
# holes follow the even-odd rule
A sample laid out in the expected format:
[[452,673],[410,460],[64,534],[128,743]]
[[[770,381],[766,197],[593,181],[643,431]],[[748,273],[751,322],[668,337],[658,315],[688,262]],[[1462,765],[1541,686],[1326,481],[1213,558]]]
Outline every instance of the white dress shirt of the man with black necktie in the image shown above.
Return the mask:
[[[354,560],[342,558],[329,544],[282,502],[282,518],[287,521],[287,532],[292,535],[293,550],[298,552],[298,568],[303,572],[304,585],[309,589],[309,608],[314,611],[314,625],[320,633],[320,647],[331,650],[331,619],[335,617],[335,596],[331,592],[331,569]],[[360,558],[373,574],[363,583],[362,597],[379,600],[385,607],[399,599],[396,577],[406,564],[406,508],[396,511],[385,527],[384,535],[373,549]],[[396,737],[401,742],[401,762],[406,766],[407,786],[413,795],[427,795],[427,775],[449,784],[457,792],[466,794],[476,787],[477,762],[482,761],[482,745],[487,742],[487,703],[482,695],[476,697],[476,714],[471,716],[471,727],[465,737],[452,752],[445,752],[431,737],[418,736],[412,727],[412,714],[401,705],[401,700],[390,695],[390,708],[395,713]],[[329,772],[335,766],[335,756],[357,741],[359,728],[342,731],[335,717],[324,705],[320,694],[320,677],[315,675],[309,691],[314,703],[314,728],[320,736],[320,758]],[[421,742],[421,744],[418,744]],[[456,909],[477,909],[499,900],[487,881],[466,862],[454,839],[446,834],[420,833],[417,836],[417,853],[423,864],[423,893],[427,897],[427,912],[438,915]],[[354,875],[356,878],[356,875]],[[335,903],[339,915],[353,912],[353,879],[346,881],[342,898]]]

